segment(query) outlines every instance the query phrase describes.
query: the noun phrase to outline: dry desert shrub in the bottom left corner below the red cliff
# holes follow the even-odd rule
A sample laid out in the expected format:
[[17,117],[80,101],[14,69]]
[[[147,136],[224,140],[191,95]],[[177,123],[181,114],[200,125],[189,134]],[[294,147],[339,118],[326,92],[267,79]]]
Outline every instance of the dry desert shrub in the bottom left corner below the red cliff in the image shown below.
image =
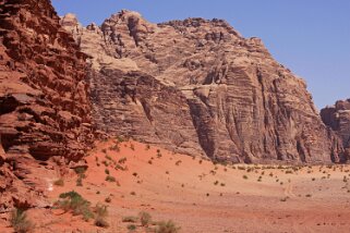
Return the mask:
[[11,213],[10,222],[17,233],[27,233],[35,229],[34,223],[27,219],[27,214],[23,209],[14,209]]

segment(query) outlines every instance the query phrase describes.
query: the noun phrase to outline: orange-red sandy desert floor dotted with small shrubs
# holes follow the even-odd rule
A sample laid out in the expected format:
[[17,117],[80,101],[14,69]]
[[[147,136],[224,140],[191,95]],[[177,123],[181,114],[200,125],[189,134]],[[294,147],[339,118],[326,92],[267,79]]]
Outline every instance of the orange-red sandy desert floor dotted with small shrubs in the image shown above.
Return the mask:
[[[116,140],[99,143],[86,160],[83,186],[76,186],[76,175],[67,176],[49,198],[53,203],[74,189],[93,205],[106,204],[110,228],[94,226],[62,210],[36,209],[29,211],[36,232],[129,232],[130,223],[122,218],[140,211],[155,221],[172,220],[184,233],[350,232],[349,165],[225,167]],[[117,182],[106,181],[108,172]],[[134,232],[147,231],[137,225]]]

